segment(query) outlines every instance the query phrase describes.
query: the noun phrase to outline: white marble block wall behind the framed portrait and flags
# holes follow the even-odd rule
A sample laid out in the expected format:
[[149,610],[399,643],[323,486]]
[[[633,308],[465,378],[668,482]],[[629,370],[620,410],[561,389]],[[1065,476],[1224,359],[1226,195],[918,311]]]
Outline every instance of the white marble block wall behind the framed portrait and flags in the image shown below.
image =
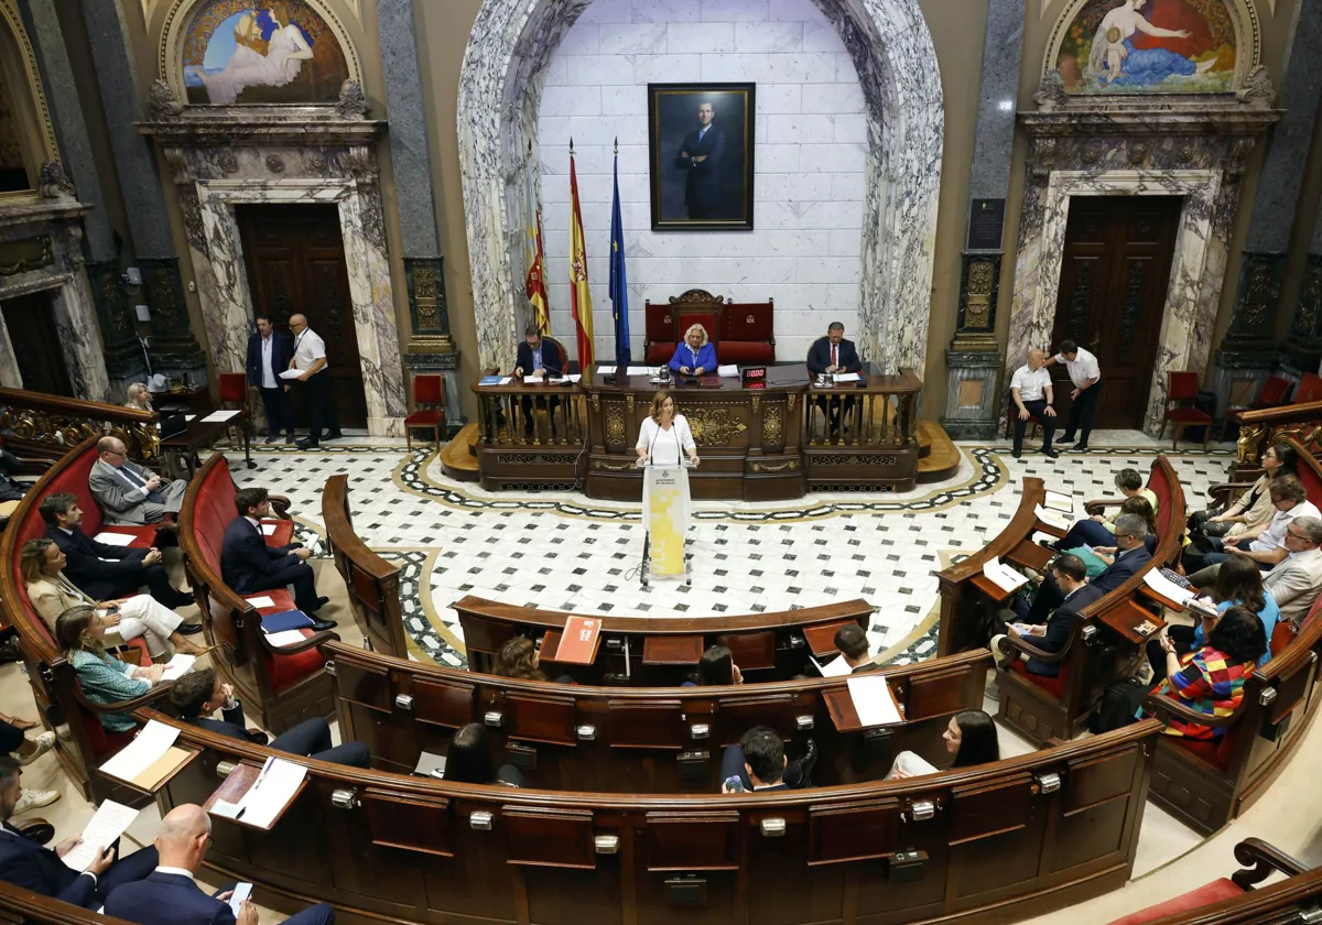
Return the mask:
[[[665,303],[693,287],[731,301],[775,299],[780,359],[802,357],[830,321],[858,336],[867,116],[854,61],[808,0],[776,9],[724,0],[706,13],[699,3],[599,0],[546,70],[537,136],[551,333],[574,338],[572,137],[598,355],[615,352],[608,244],[616,137],[635,357],[642,355],[644,301]],[[646,85],[658,81],[756,83],[754,231],[650,230]]]

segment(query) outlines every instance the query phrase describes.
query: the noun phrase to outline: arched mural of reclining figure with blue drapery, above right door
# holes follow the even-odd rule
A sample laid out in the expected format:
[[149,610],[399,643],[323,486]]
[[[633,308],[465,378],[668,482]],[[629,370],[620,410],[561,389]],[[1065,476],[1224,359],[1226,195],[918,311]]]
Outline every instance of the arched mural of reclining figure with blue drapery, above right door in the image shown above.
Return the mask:
[[1075,0],[1046,61],[1067,94],[1229,92],[1257,63],[1248,0]]

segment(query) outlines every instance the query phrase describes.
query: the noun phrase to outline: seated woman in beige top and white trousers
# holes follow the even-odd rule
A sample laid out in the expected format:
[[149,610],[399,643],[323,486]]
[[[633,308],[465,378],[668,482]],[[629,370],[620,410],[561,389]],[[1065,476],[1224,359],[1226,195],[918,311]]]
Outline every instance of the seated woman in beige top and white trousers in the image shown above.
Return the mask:
[[65,577],[67,560],[52,539],[29,539],[19,554],[19,570],[28,587],[28,600],[52,632],[56,632],[56,621],[65,610],[90,607],[106,610],[102,622],[106,629],[115,630],[111,634],[118,636],[111,640],[114,645],[140,636],[147,642],[152,661],[168,662],[176,651],[185,655],[204,651],[180,634],[184,618],[151,595],[134,595],[115,601],[95,601],[85,595]]

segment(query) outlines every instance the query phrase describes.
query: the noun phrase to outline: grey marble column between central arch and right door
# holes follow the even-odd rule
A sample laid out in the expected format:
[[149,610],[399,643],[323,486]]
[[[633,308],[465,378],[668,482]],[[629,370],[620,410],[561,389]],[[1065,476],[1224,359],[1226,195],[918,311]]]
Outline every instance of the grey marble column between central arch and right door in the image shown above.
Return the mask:
[[[982,37],[982,74],[969,182],[968,248],[960,258],[960,304],[945,352],[947,395],[941,427],[954,439],[995,437],[1001,410],[997,377],[1003,362],[995,340],[1001,229],[1010,188],[1015,96],[1023,50],[1025,0],[990,0]],[[999,211],[998,211],[999,210]],[[999,214],[999,219],[988,221]],[[993,240],[994,238],[994,240]]]

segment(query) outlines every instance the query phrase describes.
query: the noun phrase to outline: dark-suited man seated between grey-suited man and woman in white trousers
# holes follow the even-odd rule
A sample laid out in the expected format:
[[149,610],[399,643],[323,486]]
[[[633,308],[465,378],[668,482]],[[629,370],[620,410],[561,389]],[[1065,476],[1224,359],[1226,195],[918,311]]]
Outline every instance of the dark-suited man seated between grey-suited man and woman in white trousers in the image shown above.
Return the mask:
[[[63,568],[65,577],[89,597],[99,601],[130,597],[145,584],[152,597],[171,609],[193,603],[192,595],[171,584],[161,566],[160,550],[131,550],[98,543],[87,536],[82,531],[83,514],[77,496],[66,492],[48,494],[37,510],[46,522],[46,539],[53,540],[69,559]],[[201,629],[200,624],[190,624],[180,626],[178,632],[188,636]]]

